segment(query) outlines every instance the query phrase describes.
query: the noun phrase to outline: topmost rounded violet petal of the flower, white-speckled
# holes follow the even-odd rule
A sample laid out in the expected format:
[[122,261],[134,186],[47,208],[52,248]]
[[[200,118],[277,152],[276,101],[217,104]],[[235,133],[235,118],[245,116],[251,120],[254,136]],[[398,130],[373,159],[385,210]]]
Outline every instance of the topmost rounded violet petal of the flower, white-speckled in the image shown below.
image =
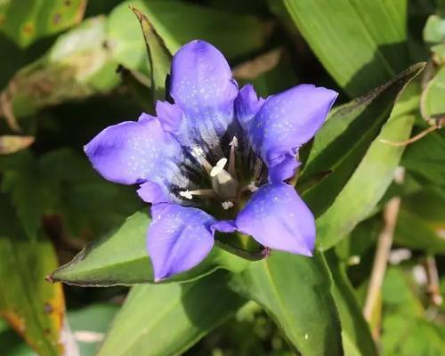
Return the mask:
[[214,147],[233,120],[238,85],[223,54],[205,41],[185,44],[174,55],[170,94],[182,109],[184,146]]

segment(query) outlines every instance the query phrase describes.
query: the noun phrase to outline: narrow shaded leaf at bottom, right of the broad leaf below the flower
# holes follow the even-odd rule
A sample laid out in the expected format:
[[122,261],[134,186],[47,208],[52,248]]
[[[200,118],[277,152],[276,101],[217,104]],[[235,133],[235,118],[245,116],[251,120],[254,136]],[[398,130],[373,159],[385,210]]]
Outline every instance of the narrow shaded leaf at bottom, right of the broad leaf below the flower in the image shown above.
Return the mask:
[[332,276],[331,292],[342,324],[344,354],[346,356],[376,356],[376,344],[372,339],[368,323],[363,318],[344,267],[340,265],[334,250],[329,250],[324,257]]

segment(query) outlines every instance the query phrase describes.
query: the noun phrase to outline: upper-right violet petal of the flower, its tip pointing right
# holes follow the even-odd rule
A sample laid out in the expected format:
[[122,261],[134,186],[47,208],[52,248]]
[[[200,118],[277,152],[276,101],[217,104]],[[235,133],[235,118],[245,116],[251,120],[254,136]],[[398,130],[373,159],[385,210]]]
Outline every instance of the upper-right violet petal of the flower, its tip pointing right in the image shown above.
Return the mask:
[[297,85],[269,97],[248,122],[249,141],[269,167],[271,182],[295,174],[298,149],[319,130],[336,97],[323,87]]

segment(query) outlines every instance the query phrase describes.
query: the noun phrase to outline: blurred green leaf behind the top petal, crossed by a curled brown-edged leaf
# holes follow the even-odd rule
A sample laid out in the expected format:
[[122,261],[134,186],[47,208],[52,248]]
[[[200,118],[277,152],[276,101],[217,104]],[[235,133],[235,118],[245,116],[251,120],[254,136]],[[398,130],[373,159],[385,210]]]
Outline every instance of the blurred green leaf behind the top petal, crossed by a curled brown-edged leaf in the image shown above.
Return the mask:
[[143,37],[136,35],[141,28],[128,8],[130,4],[148,18],[171,54],[182,44],[201,38],[231,59],[258,50],[265,41],[263,23],[254,16],[176,1],[129,1],[117,6],[109,16],[114,58],[128,69],[148,73],[146,47]]

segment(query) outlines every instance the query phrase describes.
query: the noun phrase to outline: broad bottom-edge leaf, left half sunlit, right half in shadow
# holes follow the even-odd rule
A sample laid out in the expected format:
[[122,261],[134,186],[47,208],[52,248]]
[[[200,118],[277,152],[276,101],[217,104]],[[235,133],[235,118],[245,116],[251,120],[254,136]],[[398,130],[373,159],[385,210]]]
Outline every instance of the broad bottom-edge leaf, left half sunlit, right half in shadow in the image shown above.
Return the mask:
[[228,278],[216,271],[190,283],[133,287],[98,355],[182,354],[245,303]]

